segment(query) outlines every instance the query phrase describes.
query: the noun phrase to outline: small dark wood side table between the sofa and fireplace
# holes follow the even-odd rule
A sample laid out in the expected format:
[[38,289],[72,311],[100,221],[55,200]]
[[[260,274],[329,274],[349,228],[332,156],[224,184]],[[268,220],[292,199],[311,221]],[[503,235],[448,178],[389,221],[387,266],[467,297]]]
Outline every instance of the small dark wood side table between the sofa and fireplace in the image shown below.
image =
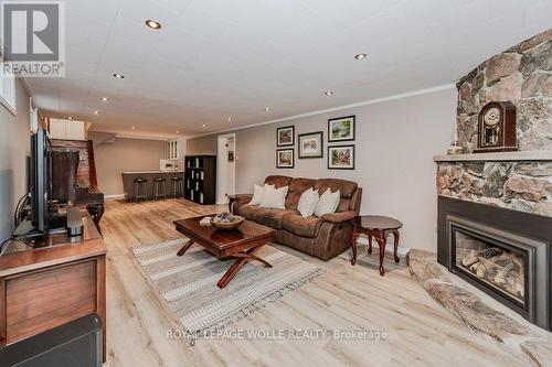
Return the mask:
[[396,256],[399,248],[399,229],[403,224],[396,219],[379,216],[379,215],[363,215],[354,218],[354,229],[352,231],[352,259],[351,265],[357,263],[357,240],[361,234],[368,236],[368,253],[372,253],[372,236],[375,237],[380,246],[380,276],[383,277],[385,269],[383,269],[383,257],[385,256],[385,245],[388,242],[389,234],[393,234],[393,257],[395,262],[399,263],[400,259]]

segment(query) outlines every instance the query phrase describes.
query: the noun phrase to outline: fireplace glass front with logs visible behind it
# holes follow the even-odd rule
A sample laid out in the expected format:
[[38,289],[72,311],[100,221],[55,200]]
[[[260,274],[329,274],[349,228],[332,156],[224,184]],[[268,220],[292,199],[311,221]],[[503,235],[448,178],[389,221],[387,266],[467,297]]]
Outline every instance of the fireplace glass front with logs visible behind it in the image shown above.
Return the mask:
[[527,310],[528,253],[456,226],[452,235],[454,268]]

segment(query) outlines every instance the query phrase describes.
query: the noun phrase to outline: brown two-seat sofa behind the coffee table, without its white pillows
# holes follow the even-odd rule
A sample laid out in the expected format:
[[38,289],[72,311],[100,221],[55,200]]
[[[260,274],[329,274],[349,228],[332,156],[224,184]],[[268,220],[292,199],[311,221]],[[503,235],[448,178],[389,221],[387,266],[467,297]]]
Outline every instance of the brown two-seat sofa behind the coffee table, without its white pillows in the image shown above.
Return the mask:
[[[248,205],[252,195],[236,195],[234,213],[246,219],[276,229],[276,241],[323,260],[343,252],[351,247],[352,219],[359,215],[362,188],[352,181],[337,179],[291,179],[273,175],[265,183],[276,188],[288,185],[286,209],[265,209]],[[336,213],[326,214],[321,218],[311,216],[304,218],[297,212],[297,204],[302,192],[314,187],[321,194],[328,187],[332,192],[339,190],[341,199]]]

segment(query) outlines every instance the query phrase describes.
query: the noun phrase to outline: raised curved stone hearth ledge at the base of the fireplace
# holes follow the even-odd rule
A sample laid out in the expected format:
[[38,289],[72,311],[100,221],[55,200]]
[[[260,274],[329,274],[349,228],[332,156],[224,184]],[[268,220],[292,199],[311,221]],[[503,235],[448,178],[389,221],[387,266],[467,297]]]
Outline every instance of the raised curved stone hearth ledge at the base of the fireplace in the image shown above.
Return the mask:
[[427,293],[470,330],[503,343],[508,349],[528,357],[537,366],[552,366],[552,334],[517,314],[509,316],[491,306],[491,302],[482,300],[469,289],[470,285],[465,285],[440,266],[436,253],[412,249],[406,260],[411,274]]

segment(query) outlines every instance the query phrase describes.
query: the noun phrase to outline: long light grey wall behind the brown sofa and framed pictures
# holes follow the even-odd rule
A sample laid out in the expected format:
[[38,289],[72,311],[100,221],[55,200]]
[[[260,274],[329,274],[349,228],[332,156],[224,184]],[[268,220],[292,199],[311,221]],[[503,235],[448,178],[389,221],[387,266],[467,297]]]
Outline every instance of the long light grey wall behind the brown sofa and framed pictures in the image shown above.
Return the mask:
[[[363,188],[361,214],[403,222],[401,246],[436,251],[437,194],[433,155],[444,153],[456,122],[456,89],[434,91],[331,114],[236,130],[236,192],[251,193],[269,174],[339,177]],[[357,116],[355,170],[327,169],[328,119]],[[276,169],[276,128],[295,125],[296,136],[323,131],[323,159],[297,159]],[[188,153],[209,153],[214,136],[188,141]],[[296,142],[297,147],[297,142]],[[213,152],[211,152],[213,153]]]

